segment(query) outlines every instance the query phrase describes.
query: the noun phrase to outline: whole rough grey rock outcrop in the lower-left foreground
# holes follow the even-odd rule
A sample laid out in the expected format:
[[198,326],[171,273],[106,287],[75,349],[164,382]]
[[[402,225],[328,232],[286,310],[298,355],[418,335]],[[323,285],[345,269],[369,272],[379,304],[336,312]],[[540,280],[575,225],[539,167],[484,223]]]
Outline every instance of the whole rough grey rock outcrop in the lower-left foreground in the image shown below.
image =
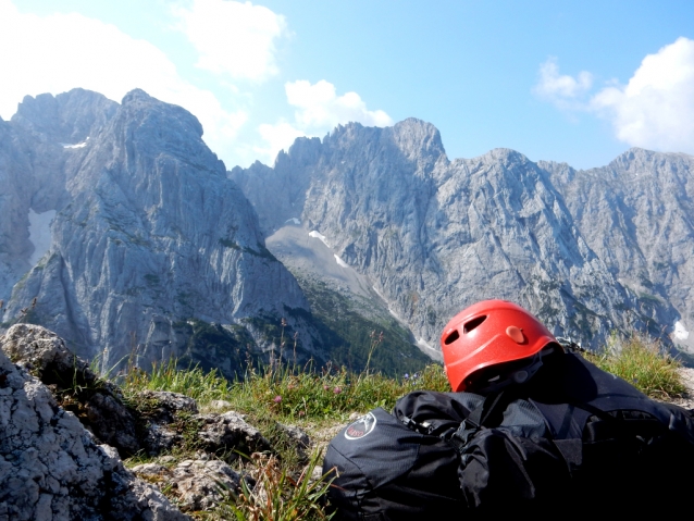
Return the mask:
[[[117,386],[41,326],[15,324],[0,336],[0,521],[177,521],[189,519],[182,511],[209,511],[228,500],[243,481],[253,494],[267,494],[252,472],[241,475],[218,459],[276,458],[244,414],[199,414],[194,399],[161,390],[140,392],[134,401],[128,409]],[[294,425],[277,427],[283,443],[306,459],[309,436]],[[102,444],[113,441],[127,451],[129,436],[131,447],[157,456],[185,447],[190,439],[184,435],[193,436],[195,456],[160,456],[132,471],[115,447]],[[157,486],[166,487],[176,506]]]

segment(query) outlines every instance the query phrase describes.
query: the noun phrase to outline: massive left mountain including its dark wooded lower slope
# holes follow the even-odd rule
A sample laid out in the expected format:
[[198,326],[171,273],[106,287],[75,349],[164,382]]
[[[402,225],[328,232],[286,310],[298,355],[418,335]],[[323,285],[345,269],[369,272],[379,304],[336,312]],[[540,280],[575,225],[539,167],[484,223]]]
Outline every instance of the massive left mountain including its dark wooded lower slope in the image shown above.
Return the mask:
[[372,367],[421,367],[387,311],[346,326],[329,290],[329,320],[311,312],[201,136],[141,90],[26,97],[0,120],[0,330],[50,327],[104,372],[173,357],[233,377],[257,359],[363,367],[379,327]]

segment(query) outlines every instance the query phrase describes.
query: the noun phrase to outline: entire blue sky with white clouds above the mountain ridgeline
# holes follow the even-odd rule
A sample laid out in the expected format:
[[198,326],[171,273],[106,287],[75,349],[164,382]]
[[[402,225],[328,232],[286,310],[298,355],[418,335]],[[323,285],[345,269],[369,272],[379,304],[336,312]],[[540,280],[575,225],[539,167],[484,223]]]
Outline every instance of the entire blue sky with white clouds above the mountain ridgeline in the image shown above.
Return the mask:
[[450,159],[694,153],[692,1],[0,0],[0,115],[73,87],[185,107],[228,169],[414,116]]

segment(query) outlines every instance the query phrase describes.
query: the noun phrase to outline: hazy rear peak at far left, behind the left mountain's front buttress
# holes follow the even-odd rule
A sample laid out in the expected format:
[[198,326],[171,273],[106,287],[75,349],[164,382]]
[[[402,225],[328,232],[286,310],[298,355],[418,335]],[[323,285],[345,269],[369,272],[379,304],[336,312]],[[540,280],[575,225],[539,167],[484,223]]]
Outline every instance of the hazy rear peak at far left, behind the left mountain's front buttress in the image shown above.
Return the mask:
[[66,203],[65,184],[79,161],[75,152],[116,106],[97,92],[74,89],[58,97],[27,96],[10,122],[0,121],[0,299],[7,301],[32,268],[36,245],[28,233],[29,209],[40,214]]

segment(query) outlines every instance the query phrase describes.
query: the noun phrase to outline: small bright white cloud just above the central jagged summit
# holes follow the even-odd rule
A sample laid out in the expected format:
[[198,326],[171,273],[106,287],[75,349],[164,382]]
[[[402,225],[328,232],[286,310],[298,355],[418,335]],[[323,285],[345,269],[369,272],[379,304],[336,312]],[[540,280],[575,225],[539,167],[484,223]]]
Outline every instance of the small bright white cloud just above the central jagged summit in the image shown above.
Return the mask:
[[257,148],[267,161],[287,150],[299,136],[324,136],[338,124],[358,122],[367,126],[388,126],[393,120],[382,110],[371,111],[357,92],[337,96],[335,86],[324,79],[314,85],[299,79],[286,83],[287,102],[295,107],[295,122],[260,125],[267,146]]

